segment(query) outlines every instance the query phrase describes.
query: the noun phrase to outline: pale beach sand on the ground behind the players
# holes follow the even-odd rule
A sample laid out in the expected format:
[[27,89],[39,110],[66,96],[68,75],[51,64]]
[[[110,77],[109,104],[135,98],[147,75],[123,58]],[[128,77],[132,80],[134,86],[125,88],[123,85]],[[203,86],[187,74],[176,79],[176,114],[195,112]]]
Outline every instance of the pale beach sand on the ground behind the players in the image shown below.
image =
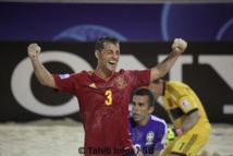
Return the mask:
[[[72,119],[0,124],[0,156],[81,156],[84,129]],[[205,149],[233,156],[233,125],[212,124]]]

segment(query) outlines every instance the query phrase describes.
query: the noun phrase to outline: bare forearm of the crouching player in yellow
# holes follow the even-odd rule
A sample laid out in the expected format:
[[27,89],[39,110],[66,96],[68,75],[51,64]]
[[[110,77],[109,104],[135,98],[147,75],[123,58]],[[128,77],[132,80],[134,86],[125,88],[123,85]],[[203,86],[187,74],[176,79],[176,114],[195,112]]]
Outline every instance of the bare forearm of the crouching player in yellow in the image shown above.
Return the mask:
[[200,115],[197,111],[192,112],[189,116],[187,116],[187,118],[184,120],[184,122],[181,125],[181,129],[186,132],[188,131],[191,128],[193,128],[197,121],[199,120]]

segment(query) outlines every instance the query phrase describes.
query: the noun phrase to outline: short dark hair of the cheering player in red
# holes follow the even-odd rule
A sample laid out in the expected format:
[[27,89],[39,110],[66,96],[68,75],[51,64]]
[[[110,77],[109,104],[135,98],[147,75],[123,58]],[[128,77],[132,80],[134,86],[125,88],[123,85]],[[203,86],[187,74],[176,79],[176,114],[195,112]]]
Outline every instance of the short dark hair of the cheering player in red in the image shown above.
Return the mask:
[[119,39],[115,37],[111,37],[111,36],[103,36],[100,37],[97,41],[96,41],[96,47],[95,50],[101,51],[103,49],[103,44],[105,43],[111,43],[113,45],[118,45],[119,44]]

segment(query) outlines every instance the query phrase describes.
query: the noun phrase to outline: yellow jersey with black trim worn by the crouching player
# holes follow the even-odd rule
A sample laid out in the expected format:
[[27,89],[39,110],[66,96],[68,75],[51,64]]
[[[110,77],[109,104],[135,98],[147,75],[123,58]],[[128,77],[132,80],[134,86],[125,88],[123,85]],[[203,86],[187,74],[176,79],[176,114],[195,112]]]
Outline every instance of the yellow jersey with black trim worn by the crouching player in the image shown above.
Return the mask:
[[[200,119],[194,127],[196,127],[196,129],[204,128],[207,131],[211,130],[201,101],[188,85],[175,81],[164,82],[163,85],[164,91],[161,97],[163,107],[169,113],[174,127],[180,128],[189,113],[198,110]],[[194,129],[195,128],[192,128],[192,130]]]

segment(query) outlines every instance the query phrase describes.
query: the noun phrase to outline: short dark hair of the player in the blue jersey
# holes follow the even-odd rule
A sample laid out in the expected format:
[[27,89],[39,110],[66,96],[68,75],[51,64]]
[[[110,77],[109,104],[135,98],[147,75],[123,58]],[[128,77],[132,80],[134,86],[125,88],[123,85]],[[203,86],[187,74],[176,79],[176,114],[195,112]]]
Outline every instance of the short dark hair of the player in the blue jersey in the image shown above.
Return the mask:
[[149,88],[139,87],[139,88],[134,91],[133,96],[135,96],[135,95],[148,96],[149,107],[155,107],[156,100],[154,98],[152,92]]

